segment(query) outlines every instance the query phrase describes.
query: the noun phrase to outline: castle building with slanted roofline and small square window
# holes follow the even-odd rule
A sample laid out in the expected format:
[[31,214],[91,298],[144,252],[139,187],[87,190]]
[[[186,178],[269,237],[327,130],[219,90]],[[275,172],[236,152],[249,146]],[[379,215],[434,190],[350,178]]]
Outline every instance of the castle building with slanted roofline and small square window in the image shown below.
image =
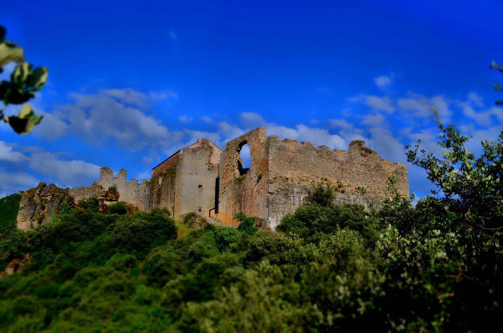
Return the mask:
[[198,139],[152,171],[149,209],[167,207],[173,216],[215,207],[215,179],[221,150],[210,140]]

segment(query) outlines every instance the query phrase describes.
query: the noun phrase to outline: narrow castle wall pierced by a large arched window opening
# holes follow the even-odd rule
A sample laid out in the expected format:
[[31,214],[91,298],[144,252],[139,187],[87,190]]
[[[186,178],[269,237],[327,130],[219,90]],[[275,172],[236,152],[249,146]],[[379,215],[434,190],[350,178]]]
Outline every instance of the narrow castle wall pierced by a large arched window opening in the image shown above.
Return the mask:
[[[246,143],[250,147],[251,163],[248,172],[240,177],[239,151]],[[238,212],[267,219],[268,161],[264,128],[257,128],[226,144],[220,157],[219,220],[235,225],[233,216]]]

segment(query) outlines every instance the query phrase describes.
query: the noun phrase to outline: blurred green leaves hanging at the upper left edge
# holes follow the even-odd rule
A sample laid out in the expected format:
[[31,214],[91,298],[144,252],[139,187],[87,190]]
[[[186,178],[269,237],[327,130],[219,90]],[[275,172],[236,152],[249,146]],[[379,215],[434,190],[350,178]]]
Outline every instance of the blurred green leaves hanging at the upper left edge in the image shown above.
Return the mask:
[[0,108],[0,119],[9,123],[18,134],[28,134],[40,123],[43,116],[37,116],[30,104],[24,105],[17,116],[4,114],[9,104],[21,105],[35,97],[35,93],[45,86],[48,76],[47,68],[35,67],[25,62],[24,51],[21,47],[5,39],[7,30],[0,26],[0,73],[4,66],[16,62],[16,68],[11,74],[10,81],[0,82],[0,99],[4,102]]

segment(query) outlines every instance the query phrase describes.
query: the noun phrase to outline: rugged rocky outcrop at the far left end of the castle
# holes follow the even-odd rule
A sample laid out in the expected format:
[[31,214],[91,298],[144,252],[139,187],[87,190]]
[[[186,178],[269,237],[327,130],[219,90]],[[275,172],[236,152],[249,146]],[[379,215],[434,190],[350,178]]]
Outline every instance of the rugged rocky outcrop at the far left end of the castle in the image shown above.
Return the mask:
[[30,230],[52,222],[53,216],[60,212],[60,204],[63,201],[74,207],[73,197],[69,195],[68,190],[54,184],[47,186],[41,182],[36,188],[24,192],[19,203],[18,229]]

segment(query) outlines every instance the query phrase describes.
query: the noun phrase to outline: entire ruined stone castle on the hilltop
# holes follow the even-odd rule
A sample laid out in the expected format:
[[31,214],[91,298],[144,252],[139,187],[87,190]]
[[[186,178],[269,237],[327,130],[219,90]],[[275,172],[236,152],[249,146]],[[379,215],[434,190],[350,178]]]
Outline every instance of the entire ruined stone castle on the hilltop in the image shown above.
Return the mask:
[[[248,169],[242,167],[239,157],[245,144],[251,155]],[[272,229],[302,205],[318,183],[336,188],[336,202],[366,207],[384,198],[391,176],[397,180],[398,192],[409,195],[406,166],[381,158],[363,141],[351,142],[348,151],[330,150],[325,145],[314,147],[310,142],[266,136],[261,127],[227,142],[224,151],[208,139],[198,139],[156,165],[150,180],[128,183],[126,176],[124,169],[114,177],[110,168],[101,168],[100,180],[92,186],[60,190],[77,202],[103,196],[115,187],[120,201],[141,210],[166,207],[175,217],[197,212],[228,225],[237,225],[233,216],[242,212],[263,219]],[[33,227],[27,223],[33,209],[24,205],[33,190],[23,194],[20,228]]]

